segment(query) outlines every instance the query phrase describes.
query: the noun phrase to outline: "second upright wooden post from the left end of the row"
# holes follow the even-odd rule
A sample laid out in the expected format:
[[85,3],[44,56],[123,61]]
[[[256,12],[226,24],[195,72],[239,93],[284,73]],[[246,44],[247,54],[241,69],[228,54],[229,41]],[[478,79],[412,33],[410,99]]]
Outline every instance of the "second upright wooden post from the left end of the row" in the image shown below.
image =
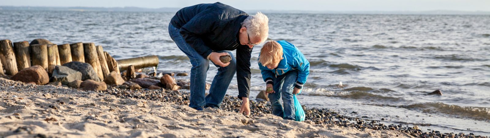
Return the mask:
[[22,41],[14,43],[15,59],[17,59],[17,69],[23,70],[30,67],[29,42]]

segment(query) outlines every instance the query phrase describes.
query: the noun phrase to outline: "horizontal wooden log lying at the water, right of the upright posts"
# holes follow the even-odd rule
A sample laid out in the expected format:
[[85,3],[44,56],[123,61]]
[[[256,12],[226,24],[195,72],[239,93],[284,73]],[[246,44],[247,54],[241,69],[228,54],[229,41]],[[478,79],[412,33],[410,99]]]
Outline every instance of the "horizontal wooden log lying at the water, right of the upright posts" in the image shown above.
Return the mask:
[[146,67],[156,67],[158,65],[158,56],[148,55],[142,57],[134,57],[128,59],[117,60],[119,69],[124,71],[129,65],[134,65],[135,69],[141,69]]

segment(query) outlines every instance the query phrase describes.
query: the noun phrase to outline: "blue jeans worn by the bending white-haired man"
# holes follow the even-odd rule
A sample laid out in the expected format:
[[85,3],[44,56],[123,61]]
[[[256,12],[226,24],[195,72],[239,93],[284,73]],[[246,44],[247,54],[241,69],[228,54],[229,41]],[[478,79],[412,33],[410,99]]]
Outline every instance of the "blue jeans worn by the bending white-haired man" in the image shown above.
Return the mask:
[[204,96],[206,87],[206,73],[209,69],[209,60],[202,55],[199,55],[189,44],[186,43],[180,29],[173,27],[169,24],[169,34],[172,40],[177,44],[177,47],[189,57],[191,68],[191,97],[189,107],[196,110],[202,110],[204,108],[220,108],[221,102],[223,102],[224,95],[228,86],[230,85],[233,76],[237,71],[237,60],[231,51],[215,51],[218,53],[226,52],[231,55],[230,64],[226,67],[218,67],[218,73],[216,74],[213,82],[211,83],[211,89],[209,94]]

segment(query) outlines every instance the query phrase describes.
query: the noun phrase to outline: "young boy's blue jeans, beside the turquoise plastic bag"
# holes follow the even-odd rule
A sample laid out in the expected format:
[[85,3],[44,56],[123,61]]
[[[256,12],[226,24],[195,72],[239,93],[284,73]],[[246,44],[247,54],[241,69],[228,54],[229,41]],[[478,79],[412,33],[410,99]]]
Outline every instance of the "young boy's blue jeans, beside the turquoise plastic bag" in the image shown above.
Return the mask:
[[[275,93],[269,94],[270,105],[274,115],[283,117],[284,119],[294,120],[294,100],[293,89],[298,78],[297,70],[290,70],[286,74],[273,78],[273,89]],[[284,108],[280,103],[280,98],[284,103]]]

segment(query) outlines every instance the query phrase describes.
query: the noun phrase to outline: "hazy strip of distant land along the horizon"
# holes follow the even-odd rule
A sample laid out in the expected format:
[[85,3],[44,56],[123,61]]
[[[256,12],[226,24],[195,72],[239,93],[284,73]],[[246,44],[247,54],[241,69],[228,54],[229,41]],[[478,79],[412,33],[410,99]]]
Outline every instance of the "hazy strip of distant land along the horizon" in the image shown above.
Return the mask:
[[[180,8],[141,8],[141,7],[48,7],[48,6],[0,6],[0,10],[48,10],[48,11],[125,11],[125,12],[176,12]],[[307,13],[307,14],[402,14],[402,15],[490,15],[490,11],[305,11],[305,10],[244,10],[248,13]]]

